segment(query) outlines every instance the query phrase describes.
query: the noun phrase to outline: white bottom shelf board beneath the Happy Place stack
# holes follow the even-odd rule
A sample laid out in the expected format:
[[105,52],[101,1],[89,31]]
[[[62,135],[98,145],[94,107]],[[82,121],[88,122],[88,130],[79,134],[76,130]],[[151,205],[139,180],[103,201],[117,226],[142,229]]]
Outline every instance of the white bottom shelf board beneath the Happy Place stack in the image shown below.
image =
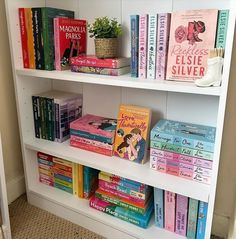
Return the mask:
[[73,210],[77,213],[83,214],[90,217],[96,221],[102,222],[108,226],[121,230],[129,235],[142,239],[184,239],[175,233],[169,232],[167,230],[159,229],[154,224],[154,218],[149,223],[147,229],[140,228],[138,226],[132,225],[131,223],[122,221],[121,219],[112,217],[105,213],[99,212],[93,208],[89,207],[89,201],[86,199],[77,198],[69,193],[63,192],[57,188],[53,188],[44,185],[40,182],[31,182],[29,187],[29,192],[37,194],[40,197],[44,197],[52,201],[53,203],[59,204],[65,208]]

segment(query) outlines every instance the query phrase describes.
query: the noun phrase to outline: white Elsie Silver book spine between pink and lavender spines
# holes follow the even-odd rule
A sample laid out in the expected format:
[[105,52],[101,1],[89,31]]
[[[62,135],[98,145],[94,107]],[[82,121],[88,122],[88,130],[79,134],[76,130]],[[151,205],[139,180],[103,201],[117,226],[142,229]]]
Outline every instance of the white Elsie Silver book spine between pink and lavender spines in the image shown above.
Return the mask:
[[157,15],[148,18],[147,78],[156,78]]

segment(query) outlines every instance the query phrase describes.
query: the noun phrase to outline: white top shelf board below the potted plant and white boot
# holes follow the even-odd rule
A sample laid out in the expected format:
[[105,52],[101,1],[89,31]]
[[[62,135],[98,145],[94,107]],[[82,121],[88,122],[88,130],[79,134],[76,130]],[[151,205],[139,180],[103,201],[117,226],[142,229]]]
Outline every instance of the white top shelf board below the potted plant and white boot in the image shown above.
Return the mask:
[[96,74],[75,73],[67,71],[44,71],[32,69],[17,69],[16,73],[23,76],[75,81],[89,84],[121,86],[138,89],[180,92],[200,95],[220,96],[221,87],[197,87],[192,82],[177,82],[166,80],[150,80],[133,78],[129,74],[121,76],[106,76]]

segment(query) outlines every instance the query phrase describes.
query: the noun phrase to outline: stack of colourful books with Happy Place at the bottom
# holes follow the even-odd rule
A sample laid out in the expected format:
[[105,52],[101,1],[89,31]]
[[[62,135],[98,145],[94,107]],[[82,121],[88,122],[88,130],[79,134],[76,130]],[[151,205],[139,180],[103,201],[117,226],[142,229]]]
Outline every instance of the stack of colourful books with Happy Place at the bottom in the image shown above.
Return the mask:
[[153,212],[152,187],[105,172],[98,177],[99,188],[90,207],[147,228]]

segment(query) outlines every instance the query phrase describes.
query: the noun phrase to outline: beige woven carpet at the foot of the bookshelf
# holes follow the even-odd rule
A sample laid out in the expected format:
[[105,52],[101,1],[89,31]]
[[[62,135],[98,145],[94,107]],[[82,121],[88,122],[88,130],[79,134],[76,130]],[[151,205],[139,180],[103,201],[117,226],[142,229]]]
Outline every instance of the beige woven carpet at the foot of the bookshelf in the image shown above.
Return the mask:
[[23,195],[9,206],[13,239],[104,239],[87,229],[31,206]]

